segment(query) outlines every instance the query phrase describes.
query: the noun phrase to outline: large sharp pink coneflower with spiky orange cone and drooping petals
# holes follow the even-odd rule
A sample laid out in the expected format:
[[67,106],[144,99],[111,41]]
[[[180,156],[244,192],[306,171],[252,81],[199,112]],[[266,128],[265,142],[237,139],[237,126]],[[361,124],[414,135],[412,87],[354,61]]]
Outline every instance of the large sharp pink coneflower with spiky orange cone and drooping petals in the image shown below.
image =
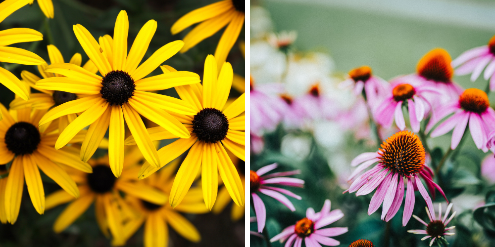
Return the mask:
[[415,190],[419,190],[430,212],[433,214],[432,199],[420,178],[425,181],[430,194],[435,197],[436,188],[444,196],[445,200],[447,199],[440,186],[432,180],[433,172],[425,164],[425,149],[419,137],[412,132],[402,130],[385,140],[381,147],[376,153],[363,153],[351,161],[351,166],[359,166],[352,172],[349,181],[370,165],[375,163],[378,163],[378,165],[357,177],[347,191],[349,193],[357,191],[356,196],[362,196],[377,189],[371,198],[368,214],[371,215],[378,210],[383,203],[381,218],[389,221],[396,215],[402,204],[405,179],[407,192],[402,225],[405,226],[411,218],[412,210],[414,209]]

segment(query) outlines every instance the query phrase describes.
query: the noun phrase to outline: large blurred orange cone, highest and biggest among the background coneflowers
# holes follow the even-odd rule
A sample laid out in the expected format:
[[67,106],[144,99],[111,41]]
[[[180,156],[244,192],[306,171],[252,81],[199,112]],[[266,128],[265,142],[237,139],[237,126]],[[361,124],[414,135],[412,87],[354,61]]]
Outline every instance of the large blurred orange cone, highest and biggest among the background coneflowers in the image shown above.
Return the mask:
[[454,69],[450,65],[452,59],[448,52],[441,48],[426,53],[418,62],[418,75],[435,82],[450,83]]

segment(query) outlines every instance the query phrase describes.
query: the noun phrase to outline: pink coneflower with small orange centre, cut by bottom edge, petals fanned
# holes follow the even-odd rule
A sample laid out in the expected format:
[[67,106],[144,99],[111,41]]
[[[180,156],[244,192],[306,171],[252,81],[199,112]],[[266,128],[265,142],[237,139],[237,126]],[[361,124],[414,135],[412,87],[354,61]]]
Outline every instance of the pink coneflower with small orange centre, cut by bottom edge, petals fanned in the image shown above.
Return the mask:
[[280,234],[270,239],[270,242],[280,240],[286,242],[286,247],[301,247],[303,241],[306,247],[340,245],[339,241],[330,237],[346,233],[347,227],[322,228],[344,217],[344,213],[340,209],[330,211],[330,206],[330,200],[327,199],[320,212],[315,212],[313,208],[309,207],[306,210],[305,218],[297,221],[295,225],[285,228]]

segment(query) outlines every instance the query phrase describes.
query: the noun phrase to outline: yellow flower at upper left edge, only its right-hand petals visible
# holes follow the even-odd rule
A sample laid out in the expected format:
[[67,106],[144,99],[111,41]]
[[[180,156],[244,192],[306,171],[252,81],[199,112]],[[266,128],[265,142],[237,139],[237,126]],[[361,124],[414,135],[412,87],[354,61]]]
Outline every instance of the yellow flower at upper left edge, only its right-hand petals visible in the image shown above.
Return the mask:
[[[4,0],[0,3],[0,22],[7,16],[13,13],[15,10],[28,4],[29,0]],[[38,65],[43,64],[45,61],[40,56],[34,54],[31,51],[27,51],[17,47],[9,47],[6,45],[41,41],[43,35],[33,29],[29,28],[11,28],[0,31],[0,62],[4,63],[18,63],[26,65]],[[24,100],[29,99],[29,89],[15,77],[8,70],[0,67],[0,83],[10,89]],[[0,111],[0,120],[2,119],[2,113]]]

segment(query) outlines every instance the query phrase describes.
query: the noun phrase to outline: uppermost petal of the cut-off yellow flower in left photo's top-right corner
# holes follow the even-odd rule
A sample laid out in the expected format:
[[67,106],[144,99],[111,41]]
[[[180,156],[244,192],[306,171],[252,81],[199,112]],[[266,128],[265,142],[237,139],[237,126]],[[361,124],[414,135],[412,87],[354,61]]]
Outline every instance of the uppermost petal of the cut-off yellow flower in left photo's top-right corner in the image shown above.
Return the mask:
[[195,9],[179,18],[179,20],[172,25],[170,31],[175,35],[195,23],[220,15],[232,8],[234,8],[234,5],[231,0],[223,0]]

